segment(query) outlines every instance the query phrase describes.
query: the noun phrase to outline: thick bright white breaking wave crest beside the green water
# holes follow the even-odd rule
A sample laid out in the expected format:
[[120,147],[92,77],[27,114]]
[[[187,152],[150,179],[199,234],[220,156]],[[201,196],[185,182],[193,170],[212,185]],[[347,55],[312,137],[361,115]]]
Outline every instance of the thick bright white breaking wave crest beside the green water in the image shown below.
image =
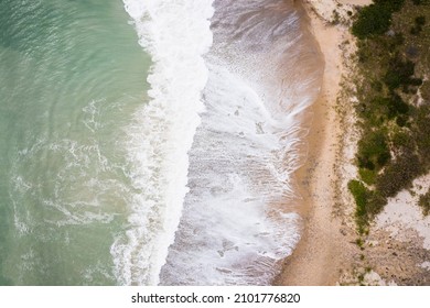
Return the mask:
[[187,152],[204,110],[202,54],[212,44],[212,0],[123,0],[153,67],[149,105],[128,128],[133,198],[128,227],[111,246],[126,285],[157,285],[187,191]]

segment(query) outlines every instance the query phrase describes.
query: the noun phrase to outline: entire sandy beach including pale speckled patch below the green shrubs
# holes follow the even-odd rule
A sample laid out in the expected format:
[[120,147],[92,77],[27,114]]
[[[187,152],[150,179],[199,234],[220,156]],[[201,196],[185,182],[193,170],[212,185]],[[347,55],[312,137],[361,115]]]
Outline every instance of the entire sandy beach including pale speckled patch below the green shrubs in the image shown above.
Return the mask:
[[369,3],[303,1],[325,69],[321,96],[310,111],[314,120],[307,138],[308,157],[297,173],[303,234],[275,285],[430,284],[430,218],[418,207],[430,175],[390,198],[364,238],[354,222],[347,183],[357,177],[359,131],[353,110],[355,40],[348,25],[356,7]]

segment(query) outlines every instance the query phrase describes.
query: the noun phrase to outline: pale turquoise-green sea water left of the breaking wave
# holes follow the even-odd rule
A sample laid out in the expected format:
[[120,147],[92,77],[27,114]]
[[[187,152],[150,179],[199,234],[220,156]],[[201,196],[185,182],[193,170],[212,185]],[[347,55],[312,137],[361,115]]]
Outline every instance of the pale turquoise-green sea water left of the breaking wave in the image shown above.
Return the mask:
[[117,284],[150,66],[129,20],[121,1],[0,1],[0,285]]

